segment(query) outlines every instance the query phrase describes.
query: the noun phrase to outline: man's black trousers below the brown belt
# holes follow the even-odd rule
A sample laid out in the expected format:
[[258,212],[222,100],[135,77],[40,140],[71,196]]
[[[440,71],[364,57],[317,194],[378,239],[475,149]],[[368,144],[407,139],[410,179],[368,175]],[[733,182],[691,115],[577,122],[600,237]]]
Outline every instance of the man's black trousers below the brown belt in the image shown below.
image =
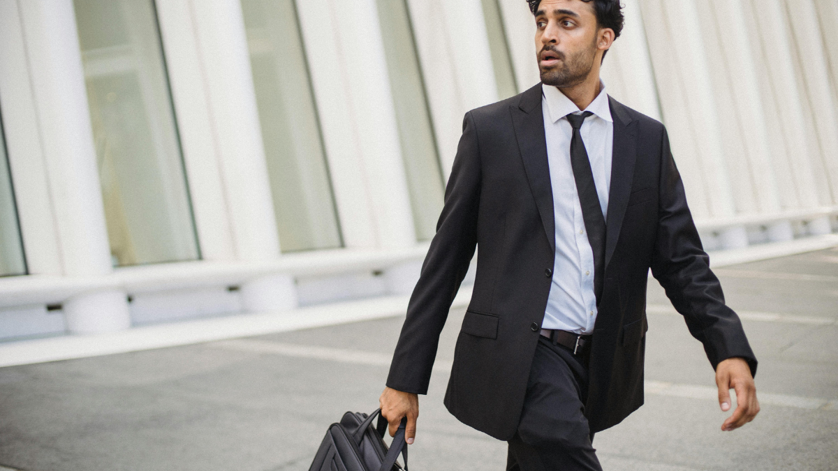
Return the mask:
[[602,471],[583,415],[587,357],[541,337],[507,471]]

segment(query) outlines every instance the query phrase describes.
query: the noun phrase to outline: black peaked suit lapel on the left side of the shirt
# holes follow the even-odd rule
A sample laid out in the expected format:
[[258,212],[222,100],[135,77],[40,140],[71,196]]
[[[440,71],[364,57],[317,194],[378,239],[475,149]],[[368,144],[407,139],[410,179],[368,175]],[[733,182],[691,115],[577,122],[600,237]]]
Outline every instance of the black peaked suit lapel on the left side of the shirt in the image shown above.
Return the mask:
[[510,106],[515,137],[530,191],[541,215],[541,223],[556,251],[556,221],[553,210],[553,187],[550,182],[550,164],[547,162],[547,142],[544,134],[544,113],[541,108],[541,84],[521,95],[518,106]]

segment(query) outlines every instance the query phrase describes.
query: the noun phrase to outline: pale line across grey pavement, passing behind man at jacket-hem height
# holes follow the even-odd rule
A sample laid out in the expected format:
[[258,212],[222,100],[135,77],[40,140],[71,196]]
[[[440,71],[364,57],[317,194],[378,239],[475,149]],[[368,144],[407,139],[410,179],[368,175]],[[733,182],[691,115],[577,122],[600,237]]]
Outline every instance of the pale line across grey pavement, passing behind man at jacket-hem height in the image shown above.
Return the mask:
[[[337,363],[382,367],[389,367],[392,358],[391,355],[377,352],[354,349],[334,349],[331,347],[319,347],[315,345],[283,344],[260,339],[221,340],[206,345],[217,349],[228,349],[240,352],[282,355],[293,358],[306,358],[311,360],[325,360]],[[433,365],[433,371],[435,373],[450,373],[451,366],[451,361],[437,360]],[[718,401],[718,389],[711,386],[685,385],[666,381],[647,380],[644,383],[644,392],[646,394],[656,396],[672,396],[684,397],[688,399]],[[810,411],[838,411],[838,400],[773,394],[769,392],[759,392],[758,399],[760,405],[762,406],[794,407]]]

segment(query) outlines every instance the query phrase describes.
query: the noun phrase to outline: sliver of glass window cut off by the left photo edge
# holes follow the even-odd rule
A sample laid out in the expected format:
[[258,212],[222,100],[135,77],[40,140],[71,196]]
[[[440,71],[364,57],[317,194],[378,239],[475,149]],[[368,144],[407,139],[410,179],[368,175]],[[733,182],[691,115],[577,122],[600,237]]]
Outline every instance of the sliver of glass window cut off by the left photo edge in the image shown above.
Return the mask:
[[0,276],[25,274],[26,260],[14,204],[12,174],[8,168],[3,120],[0,119]]

